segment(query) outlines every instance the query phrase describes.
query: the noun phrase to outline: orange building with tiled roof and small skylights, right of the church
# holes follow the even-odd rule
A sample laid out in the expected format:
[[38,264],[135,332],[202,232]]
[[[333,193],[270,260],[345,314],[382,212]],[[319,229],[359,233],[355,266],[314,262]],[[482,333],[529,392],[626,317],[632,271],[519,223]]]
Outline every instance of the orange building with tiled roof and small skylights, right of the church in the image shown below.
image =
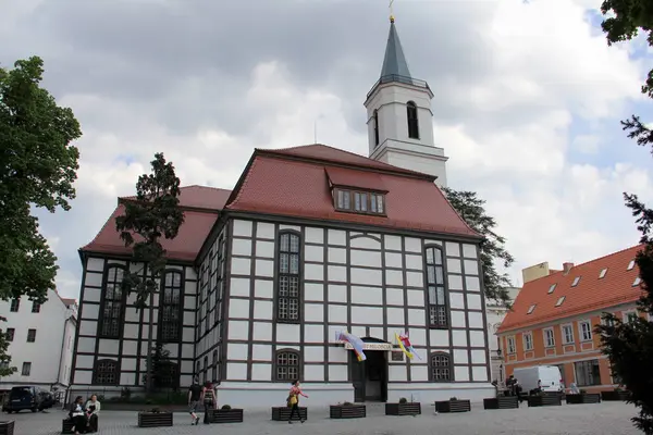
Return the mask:
[[[640,249],[564,263],[562,271],[549,271],[546,263],[525,270],[523,287],[496,333],[506,376],[516,368],[557,365],[567,387],[576,383],[593,391],[618,384],[593,330],[603,312],[625,321],[645,315],[636,306],[642,293],[634,262]],[[542,270],[539,277],[533,276],[537,269]]]

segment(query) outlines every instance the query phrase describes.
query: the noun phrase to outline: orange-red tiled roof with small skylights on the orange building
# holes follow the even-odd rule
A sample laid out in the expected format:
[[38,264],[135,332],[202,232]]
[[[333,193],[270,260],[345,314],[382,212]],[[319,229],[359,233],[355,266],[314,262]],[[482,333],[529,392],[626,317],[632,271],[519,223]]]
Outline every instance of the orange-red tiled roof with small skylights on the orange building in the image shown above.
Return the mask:
[[[639,269],[636,264],[629,271],[628,265],[641,249],[642,246],[634,246],[575,265],[567,274],[558,271],[526,283],[515,299],[513,310],[508,311],[501,324],[498,333],[637,301],[642,290],[632,284],[639,276]],[[600,278],[604,269],[607,269],[605,276]],[[579,276],[576,287],[571,287]],[[550,294],[553,285],[555,288]],[[563,303],[556,307],[556,302],[563,296]],[[534,310],[528,314],[533,304]]]

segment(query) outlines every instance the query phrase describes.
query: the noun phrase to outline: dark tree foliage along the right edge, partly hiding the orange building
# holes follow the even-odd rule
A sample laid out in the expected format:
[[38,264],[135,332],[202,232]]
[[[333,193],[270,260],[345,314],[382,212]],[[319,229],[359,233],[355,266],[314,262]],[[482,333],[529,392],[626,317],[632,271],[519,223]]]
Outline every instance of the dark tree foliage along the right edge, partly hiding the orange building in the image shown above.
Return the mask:
[[[602,23],[607,44],[630,40],[640,30],[648,34],[649,46],[653,46],[653,3],[649,0],[606,0],[601,12],[612,14]],[[653,70],[649,72],[642,94],[653,98]],[[642,147],[653,146],[653,132],[632,115],[621,121],[628,137]],[[653,153],[653,148],[652,148]],[[624,194],[626,206],[636,217],[641,232],[643,249],[637,254],[636,263],[641,278],[642,297],[638,309],[653,313],[653,210],[639,200],[637,195]],[[629,323],[621,322],[613,314],[603,314],[603,324],[595,332],[601,334],[602,351],[611,363],[614,377],[620,380],[630,393],[630,402],[639,408],[639,415],[632,418],[634,425],[645,434],[653,434],[653,376],[650,366],[653,362],[653,323],[637,318]]]

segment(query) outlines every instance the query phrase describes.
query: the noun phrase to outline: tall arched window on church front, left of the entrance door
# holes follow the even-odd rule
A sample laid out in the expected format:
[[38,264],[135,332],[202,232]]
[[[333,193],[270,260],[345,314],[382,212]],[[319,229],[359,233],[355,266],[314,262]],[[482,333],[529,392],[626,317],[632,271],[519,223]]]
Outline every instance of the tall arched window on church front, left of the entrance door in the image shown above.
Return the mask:
[[279,234],[276,320],[299,322],[300,237],[295,232]]

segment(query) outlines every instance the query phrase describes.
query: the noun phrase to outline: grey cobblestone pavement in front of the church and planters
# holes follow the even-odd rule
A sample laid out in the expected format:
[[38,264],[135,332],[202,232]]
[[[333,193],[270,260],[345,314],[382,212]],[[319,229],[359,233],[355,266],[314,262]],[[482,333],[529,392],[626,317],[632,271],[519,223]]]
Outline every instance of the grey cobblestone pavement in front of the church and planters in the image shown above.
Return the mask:
[[[433,407],[422,406],[422,415],[386,417],[382,405],[368,405],[368,417],[356,420],[330,420],[326,409],[309,408],[308,421],[289,426],[270,421],[270,414],[246,412],[245,423],[192,426],[184,413],[174,414],[173,427],[138,428],[136,413],[103,411],[99,435],[640,435],[630,418],[632,405],[603,402],[599,405],[563,405],[562,407],[485,411],[473,405],[463,414],[433,414]],[[2,420],[15,420],[15,435],[54,435],[61,432],[65,413],[4,414]]]

